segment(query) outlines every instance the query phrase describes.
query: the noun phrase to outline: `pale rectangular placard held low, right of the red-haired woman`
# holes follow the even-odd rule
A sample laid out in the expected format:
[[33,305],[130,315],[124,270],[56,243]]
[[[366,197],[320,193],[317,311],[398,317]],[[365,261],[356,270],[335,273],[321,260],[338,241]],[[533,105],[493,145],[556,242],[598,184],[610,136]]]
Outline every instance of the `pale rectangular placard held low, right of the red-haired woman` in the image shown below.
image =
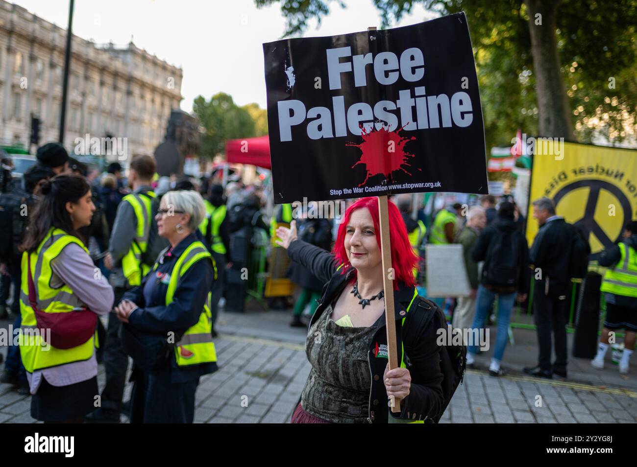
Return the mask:
[[462,245],[427,245],[427,297],[468,296]]

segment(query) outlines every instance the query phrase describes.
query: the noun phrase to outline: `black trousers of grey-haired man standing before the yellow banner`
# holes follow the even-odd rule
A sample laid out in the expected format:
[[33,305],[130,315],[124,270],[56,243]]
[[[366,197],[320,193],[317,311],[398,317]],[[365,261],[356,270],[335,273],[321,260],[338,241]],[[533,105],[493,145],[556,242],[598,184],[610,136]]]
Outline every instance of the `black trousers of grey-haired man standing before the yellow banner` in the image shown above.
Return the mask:
[[[533,291],[533,315],[538,331],[542,370],[566,370],[566,300],[544,295],[544,288]],[[551,365],[551,333],[555,343],[555,363]]]

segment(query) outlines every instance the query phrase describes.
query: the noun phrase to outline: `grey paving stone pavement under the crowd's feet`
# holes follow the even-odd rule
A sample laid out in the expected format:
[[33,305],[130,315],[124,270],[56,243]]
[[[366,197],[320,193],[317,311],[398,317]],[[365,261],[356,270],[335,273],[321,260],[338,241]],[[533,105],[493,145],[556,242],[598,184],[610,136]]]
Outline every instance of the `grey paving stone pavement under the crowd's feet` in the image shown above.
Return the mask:
[[[220,316],[215,340],[220,369],[201,378],[196,394],[197,423],[289,422],[310,372],[303,329],[287,327],[289,314],[269,311]],[[263,328],[268,338],[259,338]],[[250,323],[250,326],[246,326]],[[275,340],[276,338],[276,340]],[[0,349],[6,354],[6,347]],[[104,386],[104,368],[98,382]],[[130,396],[127,384],[124,399]],[[122,421],[126,417],[122,416]],[[631,389],[490,377],[469,370],[442,423],[631,423],[637,421],[637,393]],[[0,384],[0,423],[35,422],[30,397]]]

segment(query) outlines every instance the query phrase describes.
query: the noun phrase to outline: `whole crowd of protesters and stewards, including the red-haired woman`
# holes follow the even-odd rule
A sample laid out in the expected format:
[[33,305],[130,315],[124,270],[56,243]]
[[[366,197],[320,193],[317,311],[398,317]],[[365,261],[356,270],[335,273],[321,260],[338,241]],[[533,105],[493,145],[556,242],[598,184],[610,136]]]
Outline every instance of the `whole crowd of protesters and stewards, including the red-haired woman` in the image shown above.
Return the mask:
[[[221,171],[201,178],[160,177],[148,156],[133,157],[126,173],[117,162],[100,172],[69,157],[60,144],[48,143],[38,148],[36,164],[23,176],[12,171],[11,159],[3,158],[0,319],[10,318],[15,333],[51,331],[52,349],[44,351],[43,341],[11,345],[0,381],[31,394],[32,417],[119,422],[124,412],[131,422],[192,422],[199,379],[217,370],[213,338],[218,308],[240,303],[243,310],[242,274],[254,266],[252,248],[261,247],[268,250],[270,275],[279,274],[277,263],[283,264],[283,275],[297,285],[296,294],[275,296],[269,304],[291,307],[290,326],[308,328],[313,373],[293,421],[369,419],[368,396],[359,398],[357,392],[369,376],[367,364],[356,366],[351,357],[360,352],[366,359],[371,342],[378,354],[384,333],[378,334],[384,329],[378,321],[384,301],[376,198],[345,200],[347,211],[338,216],[312,215],[320,211],[316,203],[297,208],[296,214],[289,204],[280,205],[267,223],[260,183],[244,186],[233,180],[224,186]],[[412,195],[398,195],[389,206],[392,265],[399,270],[396,300],[412,303],[426,295],[427,244],[459,244],[469,293],[436,303],[454,328],[471,331],[466,365],[474,366],[480,352],[475,331],[493,320],[489,373],[504,373],[512,310],[516,302],[527,303],[533,290],[538,364],[524,372],[566,377],[567,298],[571,279],[583,277],[575,269],[586,268],[590,247],[575,226],[557,216],[552,200],[532,204],[539,230],[530,247],[525,235],[529,220],[512,197],[487,195],[473,199],[472,206],[450,203],[429,216]],[[257,230],[269,239],[266,245],[255,245]],[[282,258],[291,262],[281,263]],[[609,267],[601,288],[607,308],[592,366],[603,368],[611,333],[624,329],[619,368],[627,373],[637,331],[636,222],[627,223],[624,239],[600,254],[599,265]],[[250,271],[255,272],[263,271]],[[417,303],[435,306],[424,296]],[[369,305],[369,312],[361,314],[359,305]],[[433,370],[433,360],[426,358],[431,352],[424,350],[433,343],[424,339],[433,332],[431,326],[420,326],[406,338],[422,351],[410,351],[415,365],[411,382],[409,372],[383,372],[379,366],[374,370],[377,377],[384,373],[384,384],[371,383],[373,391],[397,399],[411,387],[408,407],[419,420],[440,416],[448,396],[441,393],[444,371]],[[320,348],[360,345],[345,359],[318,352],[313,335],[319,328],[328,344]],[[104,364],[106,385],[96,405],[98,362]],[[350,377],[343,382],[334,373],[318,379],[327,367],[341,375],[347,367]],[[361,380],[356,379],[359,373]],[[124,403],[127,380],[133,389]],[[350,401],[347,414],[341,413],[339,398]]]

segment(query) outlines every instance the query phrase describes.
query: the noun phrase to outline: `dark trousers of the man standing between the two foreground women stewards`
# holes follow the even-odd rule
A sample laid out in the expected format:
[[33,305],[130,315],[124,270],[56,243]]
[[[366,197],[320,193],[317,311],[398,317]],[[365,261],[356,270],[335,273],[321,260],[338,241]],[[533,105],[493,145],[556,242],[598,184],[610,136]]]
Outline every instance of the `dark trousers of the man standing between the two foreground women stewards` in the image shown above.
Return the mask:
[[[118,305],[126,289],[116,287],[114,305]],[[102,407],[111,410],[122,410],[122,397],[126,384],[128,370],[128,355],[122,347],[119,330],[122,322],[117,319],[115,312],[108,314],[108,328],[106,329],[106,343],[104,344],[104,369],[106,370],[106,386],[102,391]]]

